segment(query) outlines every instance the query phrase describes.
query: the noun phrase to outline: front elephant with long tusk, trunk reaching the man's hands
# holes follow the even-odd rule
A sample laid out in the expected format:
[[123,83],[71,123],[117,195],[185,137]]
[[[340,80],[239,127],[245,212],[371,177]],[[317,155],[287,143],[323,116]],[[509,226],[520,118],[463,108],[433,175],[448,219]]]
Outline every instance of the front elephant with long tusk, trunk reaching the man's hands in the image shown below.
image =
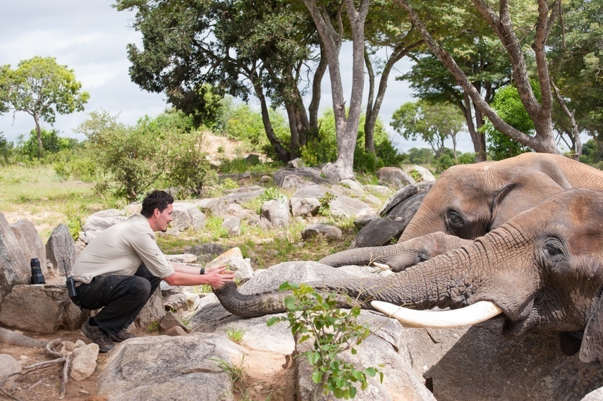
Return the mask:
[[[372,301],[411,305],[415,309],[459,309],[485,302],[502,312],[506,337],[528,332],[584,331],[580,360],[601,362],[603,221],[600,216],[603,216],[602,192],[565,190],[517,214],[469,245],[404,271],[309,284],[320,291],[337,290],[349,295],[341,297],[342,307],[351,306],[348,300],[360,302],[367,309],[378,309]],[[325,269],[334,268],[325,266]],[[236,285],[229,283],[214,289],[214,293],[227,311],[238,316],[286,311],[286,292],[243,295]],[[427,312],[434,313],[447,312]],[[483,320],[481,316],[480,319]]]

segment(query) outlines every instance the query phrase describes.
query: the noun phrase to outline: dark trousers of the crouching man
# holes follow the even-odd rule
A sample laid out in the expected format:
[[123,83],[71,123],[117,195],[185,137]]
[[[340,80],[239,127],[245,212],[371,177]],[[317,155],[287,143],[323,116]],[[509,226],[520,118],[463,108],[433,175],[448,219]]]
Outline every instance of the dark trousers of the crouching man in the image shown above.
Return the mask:
[[133,276],[97,276],[90,284],[76,288],[82,309],[101,309],[94,316],[106,333],[117,335],[130,326],[157,289],[161,278],[153,276],[144,264]]

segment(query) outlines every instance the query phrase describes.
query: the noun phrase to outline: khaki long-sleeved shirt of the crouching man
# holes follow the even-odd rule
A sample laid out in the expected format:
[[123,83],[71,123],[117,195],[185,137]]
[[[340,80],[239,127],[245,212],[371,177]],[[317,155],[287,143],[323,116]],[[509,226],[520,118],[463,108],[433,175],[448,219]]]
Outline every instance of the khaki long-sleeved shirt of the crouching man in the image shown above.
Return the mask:
[[159,278],[173,274],[173,267],[157,246],[155,233],[142,214],[103,230],[88,244],[71,269],[76,281],[90,283],[95,276],[133,276],[141,264]]

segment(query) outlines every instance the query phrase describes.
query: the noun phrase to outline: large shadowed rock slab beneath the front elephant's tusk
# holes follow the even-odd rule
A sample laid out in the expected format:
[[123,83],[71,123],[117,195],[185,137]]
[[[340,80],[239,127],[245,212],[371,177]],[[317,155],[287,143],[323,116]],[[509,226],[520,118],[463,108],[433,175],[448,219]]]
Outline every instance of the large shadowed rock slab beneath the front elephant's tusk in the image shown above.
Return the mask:
[[413,332],[408,350],[413,368],[438,401],[580,400],[603,386],[601,364],[567,357],[559,333],[528,333],[506,339],[503,319],[470,328]]

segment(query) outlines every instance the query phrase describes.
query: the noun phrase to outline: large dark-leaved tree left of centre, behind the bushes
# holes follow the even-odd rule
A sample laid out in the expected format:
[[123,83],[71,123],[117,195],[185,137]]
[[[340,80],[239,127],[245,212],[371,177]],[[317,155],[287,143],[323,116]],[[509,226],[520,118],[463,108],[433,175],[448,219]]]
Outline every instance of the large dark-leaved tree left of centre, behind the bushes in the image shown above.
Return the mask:
[[[319,61],[312,87],[310,116],[303,105],[304,70],[318,56],[316,28],[301,4],[284,0],[152,1],[118,0],[119,10],[137,11],[134,27],[142,48],[128,45],[130,76],[145,90],[164,92],[171,104],[187,113],[207,107],[201,88],[217,94],[260,101],[262,123],[274,152],[289,161],[317,129],[320,81],[326,65]],[[322,58],[321,58],[322,60]],[[284,105],[290,143],[274,132],[272,106]]]

